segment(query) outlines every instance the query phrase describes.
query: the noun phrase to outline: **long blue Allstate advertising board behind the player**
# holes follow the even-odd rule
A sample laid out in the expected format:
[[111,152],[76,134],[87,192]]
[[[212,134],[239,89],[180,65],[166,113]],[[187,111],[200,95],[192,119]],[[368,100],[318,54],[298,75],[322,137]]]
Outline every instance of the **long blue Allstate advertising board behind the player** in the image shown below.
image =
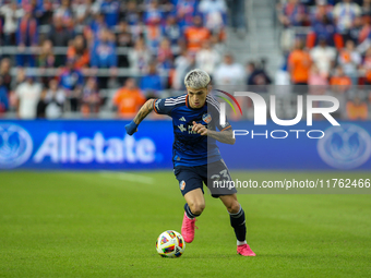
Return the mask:
[[[133,137],[120,120],[0,121],[0,169],[33,170],[140,170],[171,169],[173,141],[170,121],[145,121]],[[307,126],[254,126],[251,121],[232,122],[235,130],[248,130],[235,146],[220,144],[230,169],[261,170],[369,170],[371,169],[371,122],[327,121]],[[251,137],[251,132],[265,135]],[[286,130],[286,138],[273,138],[274,130]],[[290,130],[322,130],[326,136],[299,138]],[[314,133],[313,133],[314,134]],[[275,133],[283,136],[284,133]],[[316,134],[318,135],[318,134]],[[321,146],[320,146],[321,145]]]

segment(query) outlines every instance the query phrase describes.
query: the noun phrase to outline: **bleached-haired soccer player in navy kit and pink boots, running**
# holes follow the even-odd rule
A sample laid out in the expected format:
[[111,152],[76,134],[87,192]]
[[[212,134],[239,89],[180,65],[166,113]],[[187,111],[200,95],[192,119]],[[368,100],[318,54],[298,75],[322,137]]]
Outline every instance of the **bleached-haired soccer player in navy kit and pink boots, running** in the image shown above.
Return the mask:
[[[184,78],[188,94],[164,99],[147,100],[134,120],[125,125],[129,135],[137,131],[139,124],[153,110],[172,118],[175,142],[172,146],[173,172],[185,198],[181,234],[190,243],[194,239],[194,222],[205,208],[203,183],[230,181],[227,166],[222,159],[216,141],[235,144],[231,125],[226,120],[219,124],[219,104],[210,95],[212,86],[208,74],[202,70],[190,71]],[[219,132],[216,131],[216,128]],[[235,188],[218,191],[208,188],[213,197],[226,206],[230,225],[237,238],[237,253],[255,256],[246,241],[244,211],[237,201]],[[227,191],[227,192],[226,192]]]

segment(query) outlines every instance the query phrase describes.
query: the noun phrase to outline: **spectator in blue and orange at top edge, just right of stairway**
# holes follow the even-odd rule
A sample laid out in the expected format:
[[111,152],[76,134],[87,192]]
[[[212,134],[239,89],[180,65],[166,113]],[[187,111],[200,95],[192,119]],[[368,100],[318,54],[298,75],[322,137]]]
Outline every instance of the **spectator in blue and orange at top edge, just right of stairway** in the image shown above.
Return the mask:
[[306,7],[299,0],[288,0],[279,14],[279,21],[285,27],[303,26],[308,21]]

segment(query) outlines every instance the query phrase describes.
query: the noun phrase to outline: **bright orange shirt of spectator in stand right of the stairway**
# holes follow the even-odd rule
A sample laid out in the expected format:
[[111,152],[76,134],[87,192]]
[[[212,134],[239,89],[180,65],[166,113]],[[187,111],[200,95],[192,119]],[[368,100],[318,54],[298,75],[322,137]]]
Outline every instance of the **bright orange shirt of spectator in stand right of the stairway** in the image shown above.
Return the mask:
[[294,83],[308,83],[312,65],[310,55],[303,50],[294,50],[288,58],[288,67]]

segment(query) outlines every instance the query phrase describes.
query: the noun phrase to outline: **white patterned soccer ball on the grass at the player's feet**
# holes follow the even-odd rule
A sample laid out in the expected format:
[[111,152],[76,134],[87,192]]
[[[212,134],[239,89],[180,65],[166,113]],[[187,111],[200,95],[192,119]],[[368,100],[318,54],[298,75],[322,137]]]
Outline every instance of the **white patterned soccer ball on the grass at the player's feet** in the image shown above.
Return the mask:
[[183,237],[172,230],[163,232],[156,241],[157,253],[163,257],[180,257],[184,249],[185,242]]

